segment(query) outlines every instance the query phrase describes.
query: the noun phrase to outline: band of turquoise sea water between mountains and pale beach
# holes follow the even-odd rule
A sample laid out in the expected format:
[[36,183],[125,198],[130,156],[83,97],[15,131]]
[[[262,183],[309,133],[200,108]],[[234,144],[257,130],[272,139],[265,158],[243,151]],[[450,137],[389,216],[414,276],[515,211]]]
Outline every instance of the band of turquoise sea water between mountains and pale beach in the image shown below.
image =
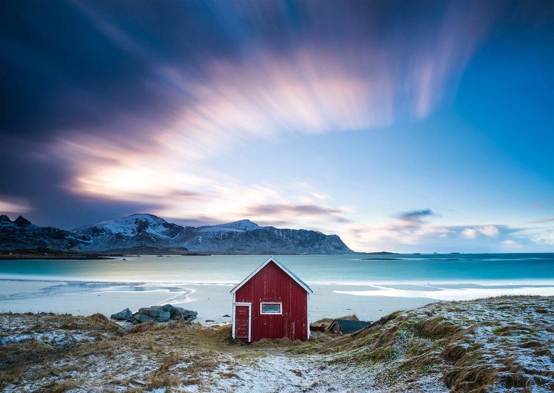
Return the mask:
[[[267,256],[140,256],[120,260],[0,261],[0,279],[238,283]],[[275,255],[307,283],[507,282],[554,285],[551,254]],[[362,258],[387,258],[362,260]],[[393,259],[394,258],[394,259]],[[398,258],[398,259],[396,259]]]

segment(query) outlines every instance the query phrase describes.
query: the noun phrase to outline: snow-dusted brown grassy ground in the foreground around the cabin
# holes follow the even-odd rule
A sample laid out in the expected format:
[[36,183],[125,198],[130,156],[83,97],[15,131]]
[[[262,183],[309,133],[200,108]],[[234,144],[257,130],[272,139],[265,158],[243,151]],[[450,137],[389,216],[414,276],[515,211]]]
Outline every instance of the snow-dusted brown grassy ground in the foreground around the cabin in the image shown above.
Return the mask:
[[[6,392],[550,392],[554,299],[395,312],[352,335],[240,345],[230,326],[0,315]],[[64,323],[65,322],[65,323]]]

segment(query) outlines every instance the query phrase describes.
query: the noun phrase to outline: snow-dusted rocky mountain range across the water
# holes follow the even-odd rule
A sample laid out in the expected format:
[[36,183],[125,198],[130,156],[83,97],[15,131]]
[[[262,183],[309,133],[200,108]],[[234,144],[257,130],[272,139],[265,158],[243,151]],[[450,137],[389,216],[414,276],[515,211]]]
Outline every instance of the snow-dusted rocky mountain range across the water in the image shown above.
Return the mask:
[[81,226],[72,231],[33,225],[21,216],[16,221],[12,222],[5,215],[0,216],[0,249],[49,247],[58,250],[107,251],[132,247],[181,247],[193,252],[353,253],[337,235],[259,226],[250,220],[183,227],[153,214],[133,214]]

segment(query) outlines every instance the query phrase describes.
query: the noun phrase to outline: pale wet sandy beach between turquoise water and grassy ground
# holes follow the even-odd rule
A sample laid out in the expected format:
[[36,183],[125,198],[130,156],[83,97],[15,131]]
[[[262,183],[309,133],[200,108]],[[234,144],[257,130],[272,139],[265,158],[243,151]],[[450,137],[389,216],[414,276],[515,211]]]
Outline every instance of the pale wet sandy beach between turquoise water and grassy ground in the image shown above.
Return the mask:
[[[467,300],[500,294],[553,296],[554,287],[503,285],[329,285],[310,284],[310,322],[356,314],[374,321],[391,312],[409,310],[437,301]],[[54,312],[109,317],[125,308],[170,303],[197,311],[203,324],[230,322],[232,284],[110,283],[72,281],[0,280],[0,312]],[[469,287],[469,288],[468,288]],[[388,295],[388,296],[387,296]]]

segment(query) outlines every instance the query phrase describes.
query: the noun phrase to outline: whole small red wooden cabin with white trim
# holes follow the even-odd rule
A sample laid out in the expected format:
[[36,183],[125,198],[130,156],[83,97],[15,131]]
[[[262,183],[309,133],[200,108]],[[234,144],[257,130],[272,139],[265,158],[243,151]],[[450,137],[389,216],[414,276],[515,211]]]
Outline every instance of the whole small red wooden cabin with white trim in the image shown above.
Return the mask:
[[231,291],[233,338],[310,338],[309,286],[273,256]]

